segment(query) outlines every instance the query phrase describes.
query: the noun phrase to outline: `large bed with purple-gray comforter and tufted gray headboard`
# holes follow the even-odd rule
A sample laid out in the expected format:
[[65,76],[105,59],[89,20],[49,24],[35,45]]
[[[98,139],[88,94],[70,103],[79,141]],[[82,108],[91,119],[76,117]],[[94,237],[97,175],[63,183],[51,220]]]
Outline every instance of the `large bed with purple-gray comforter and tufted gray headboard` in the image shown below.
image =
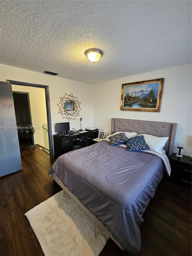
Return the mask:
[[[143,212],[164,173],[170,175],[167,156],[173,153],[176,126],[176,123],[112,118],[113,136],[61,155],[49,170],[49,176],[122,250],[137,255]],[[120,134],[132,136],[126,142],[130,143],[111,146],[112,138]],[[131,141],[140,137],[148,143],[150,136],[162,140],[167,137],[166,153],[151,150],[154,140],[150,141],[150,148],[128,151]]]

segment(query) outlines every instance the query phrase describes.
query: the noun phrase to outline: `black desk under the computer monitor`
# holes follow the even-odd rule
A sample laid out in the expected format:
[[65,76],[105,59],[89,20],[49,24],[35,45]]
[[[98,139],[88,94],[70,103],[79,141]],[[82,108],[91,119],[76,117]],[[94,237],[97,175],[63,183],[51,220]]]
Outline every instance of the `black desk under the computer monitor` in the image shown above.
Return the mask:
[[[86,131],[87,132],[87,131]],[[79,139],[80,133],[76,132],[72,135],[58,136],[53,135],[53,145],[54,145],[54,158],[57,159],[60,155],[63,155],[73,149],[73,140]]]

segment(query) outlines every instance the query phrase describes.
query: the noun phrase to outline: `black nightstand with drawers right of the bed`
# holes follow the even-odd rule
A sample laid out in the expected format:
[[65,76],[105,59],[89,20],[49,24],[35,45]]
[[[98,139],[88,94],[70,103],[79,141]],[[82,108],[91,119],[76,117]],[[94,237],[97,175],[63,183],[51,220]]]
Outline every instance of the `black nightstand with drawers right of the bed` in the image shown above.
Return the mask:
[[183,157],[177,157],[175,153],[169,158],[171,166],[170,181],[181,185],[185,188],[191,189],[191,157],[183,155]]

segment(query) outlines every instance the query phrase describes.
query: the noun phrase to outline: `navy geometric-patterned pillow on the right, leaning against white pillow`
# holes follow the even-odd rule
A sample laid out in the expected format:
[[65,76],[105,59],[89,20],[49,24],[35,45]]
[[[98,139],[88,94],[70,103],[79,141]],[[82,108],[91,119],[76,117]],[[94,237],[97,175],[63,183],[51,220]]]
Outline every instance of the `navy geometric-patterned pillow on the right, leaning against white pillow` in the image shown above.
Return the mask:
[[149,149],[143,135],[133,137],[127,141],[127,151],[139,151]]

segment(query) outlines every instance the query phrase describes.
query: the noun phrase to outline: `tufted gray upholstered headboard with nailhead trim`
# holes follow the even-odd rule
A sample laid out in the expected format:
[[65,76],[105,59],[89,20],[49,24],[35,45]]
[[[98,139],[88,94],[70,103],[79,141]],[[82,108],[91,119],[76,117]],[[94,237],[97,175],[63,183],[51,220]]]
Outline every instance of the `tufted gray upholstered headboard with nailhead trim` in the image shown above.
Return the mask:
[[112,118],[111,134],[116,131],[137,132],[137,134],[151,134],[157,137],[169,137],[164,146],[168,156],[173,154],[177,123],[143,121],[134,119]]

